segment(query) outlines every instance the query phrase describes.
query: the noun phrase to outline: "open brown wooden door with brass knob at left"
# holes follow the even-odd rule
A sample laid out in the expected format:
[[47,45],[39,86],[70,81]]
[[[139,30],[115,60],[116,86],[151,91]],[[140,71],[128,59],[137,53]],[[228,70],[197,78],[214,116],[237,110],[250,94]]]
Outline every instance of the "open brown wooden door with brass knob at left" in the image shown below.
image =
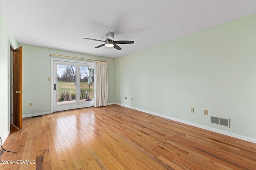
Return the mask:
[[13,124],[22,129],[22,46],[13,51]]

